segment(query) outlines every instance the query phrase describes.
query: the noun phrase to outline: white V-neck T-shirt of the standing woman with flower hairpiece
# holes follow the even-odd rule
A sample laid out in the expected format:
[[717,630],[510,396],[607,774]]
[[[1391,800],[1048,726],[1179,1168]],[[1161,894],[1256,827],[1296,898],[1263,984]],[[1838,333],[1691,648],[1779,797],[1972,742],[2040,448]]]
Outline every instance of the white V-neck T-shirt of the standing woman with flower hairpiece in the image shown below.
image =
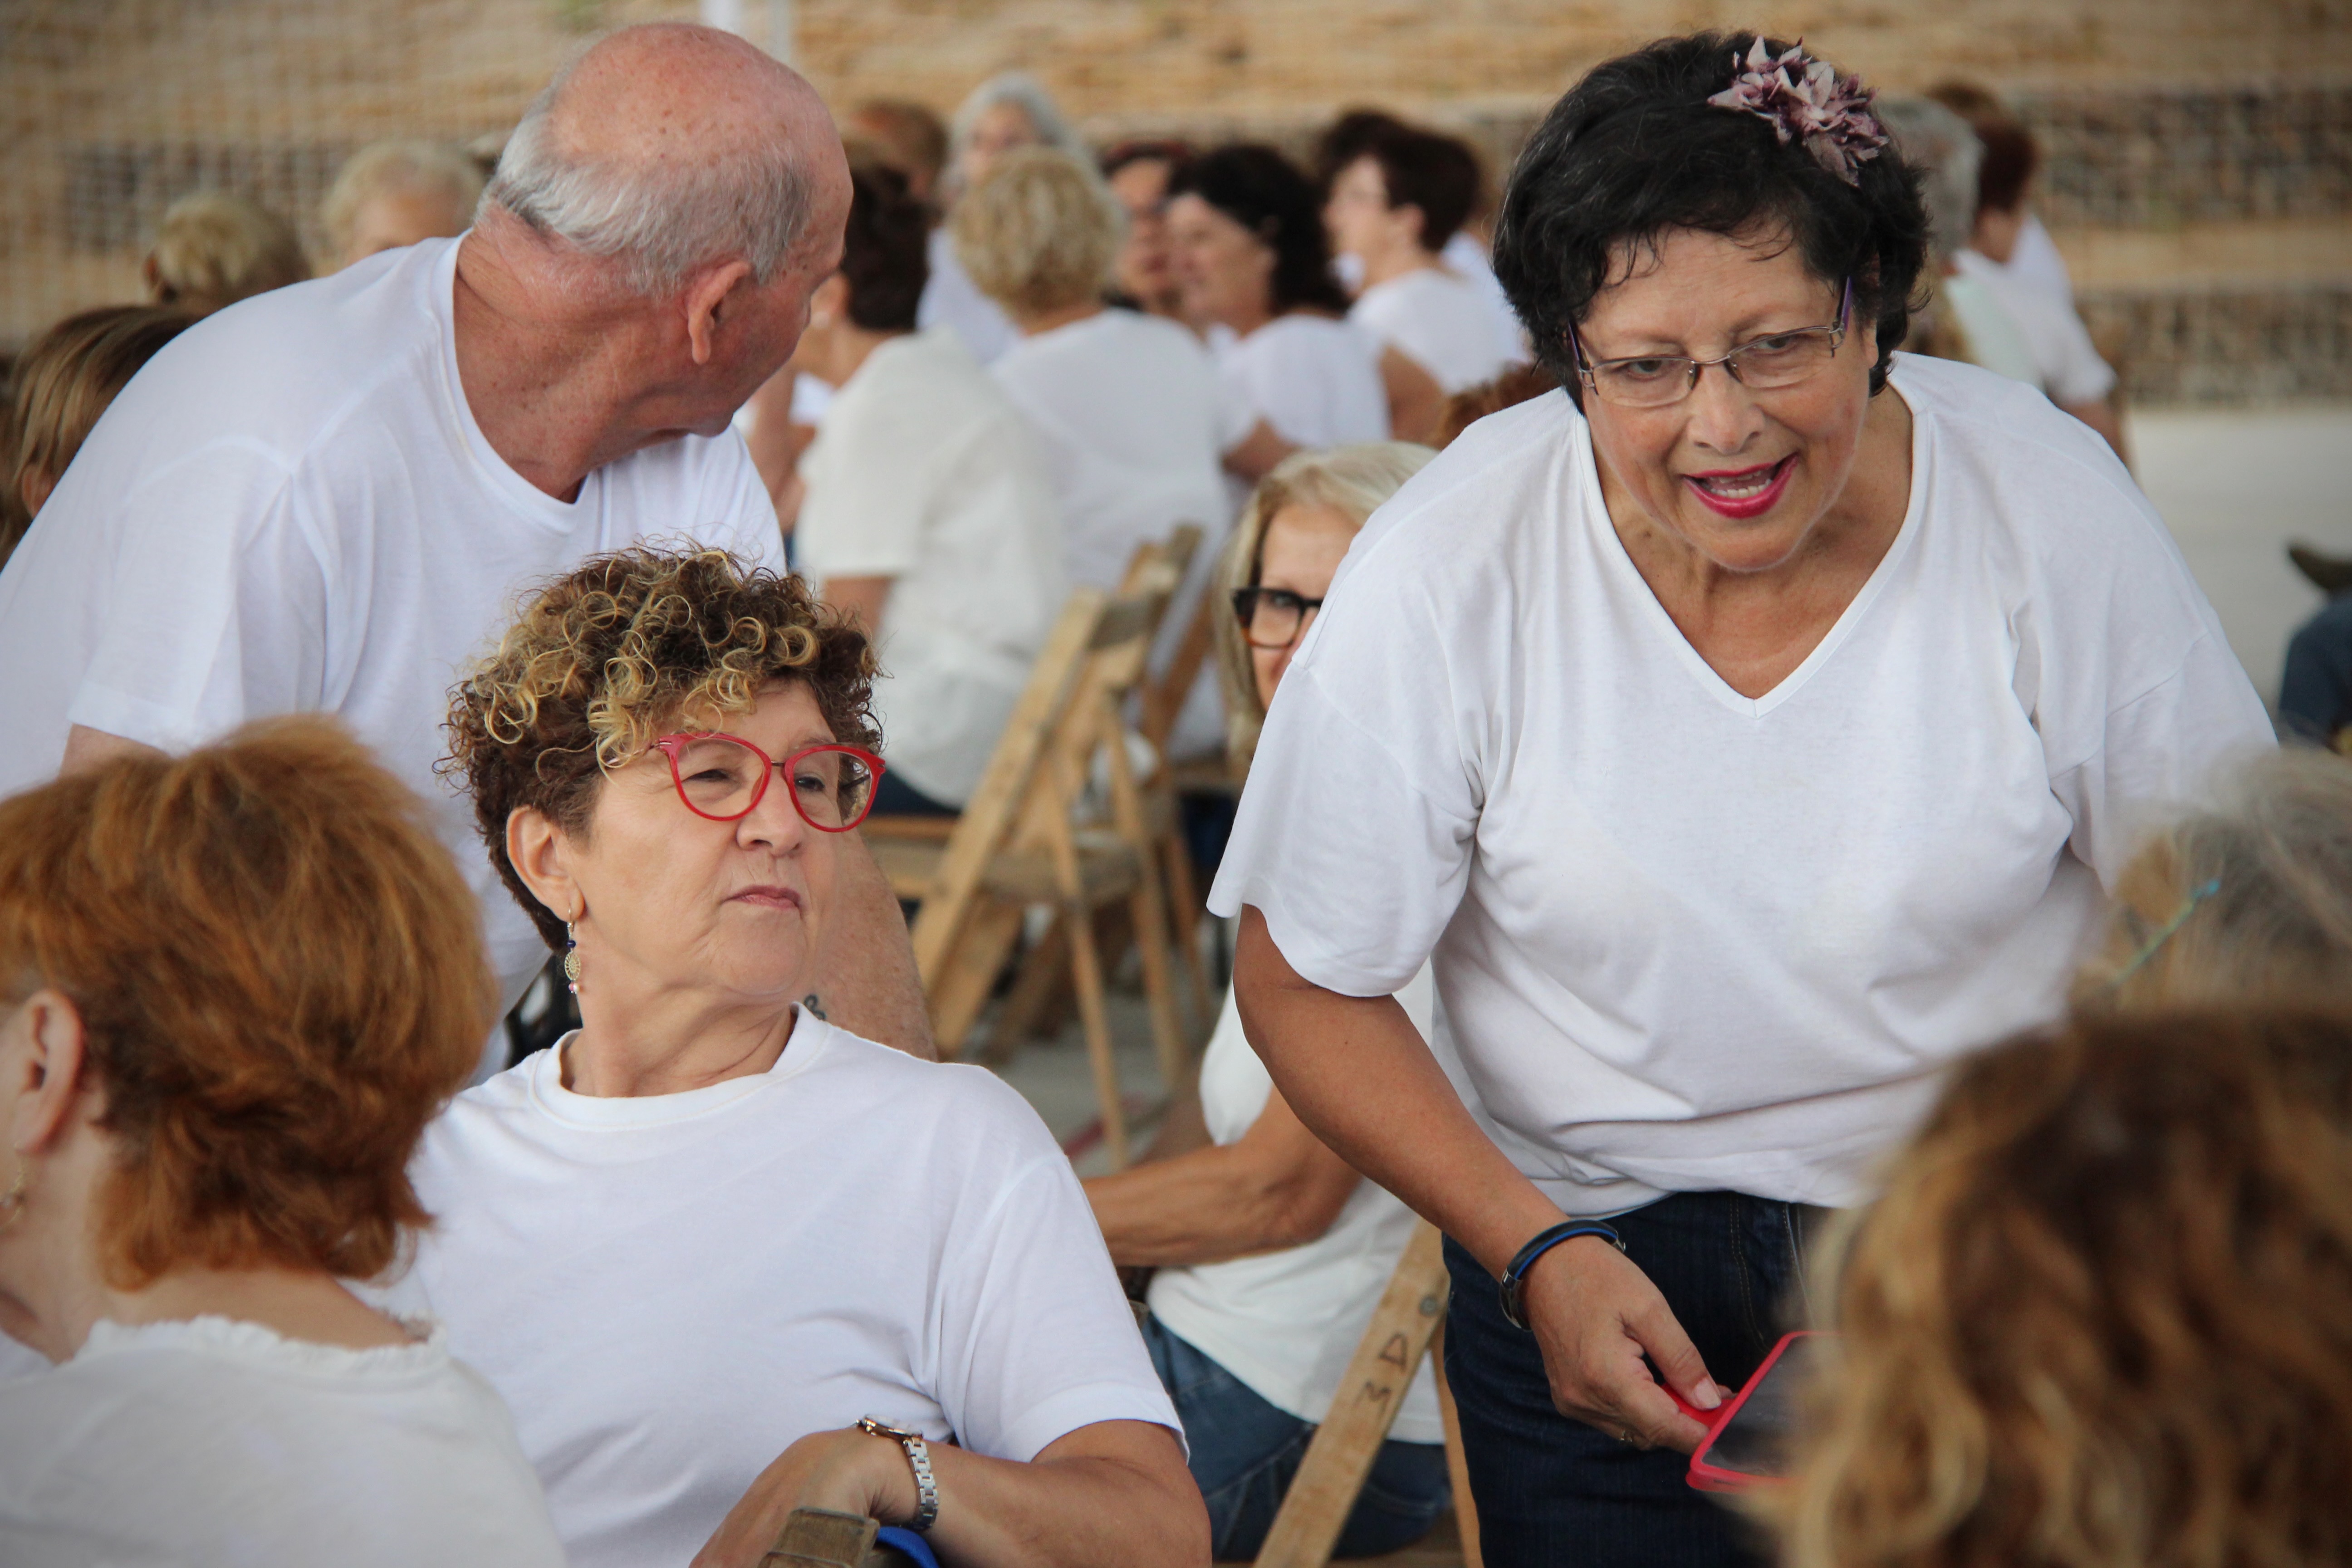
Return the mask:
[[2051,1018],[2154,811],[2272,745],[2105,442],[1900,355],[1912,491],[1745,698],[1609,524],[1566,395],[1374,512],[1275,693],[1209,905],[1439,1063],[1566,1213],[1853,1204],[1959,1053]]

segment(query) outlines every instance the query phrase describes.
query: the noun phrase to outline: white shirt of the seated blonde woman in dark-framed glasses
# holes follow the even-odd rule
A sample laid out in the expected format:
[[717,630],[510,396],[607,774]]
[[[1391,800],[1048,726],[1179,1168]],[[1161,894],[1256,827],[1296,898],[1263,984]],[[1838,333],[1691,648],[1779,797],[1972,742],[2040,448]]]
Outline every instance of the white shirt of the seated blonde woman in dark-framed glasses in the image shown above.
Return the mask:
[[[1404,1016],[1430,1037],[1435,992],[1428,966],[1397,992]],[[1200,1107],[1209,1138],[1221,1147],[1265,1114],[1275,1091],[1265,1063],[1242,1034],[1242,1013],[1225,992],[1216,1034],[1200,1058]],[[1315,1241],[1277,1253],[1197,1262],[1152,1274],[1152,1316],[1176,1338],[1207,1352],[1211,1361],[1249,1385],[1265,1403],[1319,1425],[1331,1413],[1348,1359],[1371,1324],[1381,1293],[1404,1244],[1414,1239],[1414,1211],[1376,1182],[1362,1180],[1338,1218]],[[1397,1406],[1388,1436],[1404,1443],[1442,1443],[1437,1375],[1423,1361]]]

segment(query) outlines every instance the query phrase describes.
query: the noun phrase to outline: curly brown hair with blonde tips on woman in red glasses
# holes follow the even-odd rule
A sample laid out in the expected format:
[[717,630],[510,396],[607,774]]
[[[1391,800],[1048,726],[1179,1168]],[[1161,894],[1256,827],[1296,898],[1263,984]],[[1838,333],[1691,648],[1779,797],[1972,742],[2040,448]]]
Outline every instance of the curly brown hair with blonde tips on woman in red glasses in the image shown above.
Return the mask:
[[797,576],[724,550],[616,550],[527,595],[449,693],[442,766],[466,778],[499,879],[557,950],[564,922],[506,858],[508,816],[532,806],[586,837],[607,771],[680,722],[750,712],[779,679],[809,689],[835,741],[877,752],[873,677],[866,632]]

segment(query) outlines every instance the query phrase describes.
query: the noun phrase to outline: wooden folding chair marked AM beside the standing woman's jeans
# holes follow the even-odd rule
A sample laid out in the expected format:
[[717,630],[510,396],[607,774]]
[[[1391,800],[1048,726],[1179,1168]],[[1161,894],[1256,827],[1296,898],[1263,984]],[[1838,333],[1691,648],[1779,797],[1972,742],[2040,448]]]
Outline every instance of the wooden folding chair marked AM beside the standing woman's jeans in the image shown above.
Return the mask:
[[[1397,1272],[1355,1345],[1348,1373],[1341,1378],[1331,1413],[1308,1441],[1308,1453],[1291,1476],[1256,1568],[1322,1568],[1331,1547],[1355,1512],[1364,1476],[1388,1441],[1404,1389],[1414,1385],[1421,1356],[1435,1345],[1446,1319],[1444,1237],[1435,1225],[1414,1225]],[[1444,1361],[1437,1361],[1437,1403],[1446,1422],[1446,1472],[1454,1479],[1454,1519],[1461,1526],[1463,1563],[1479,1568],[1477,1509],[1470,1505],[1470,1476],[1463,1467],[1461,1422],[1454,1415],[1454,1392],[1446,1387]]]

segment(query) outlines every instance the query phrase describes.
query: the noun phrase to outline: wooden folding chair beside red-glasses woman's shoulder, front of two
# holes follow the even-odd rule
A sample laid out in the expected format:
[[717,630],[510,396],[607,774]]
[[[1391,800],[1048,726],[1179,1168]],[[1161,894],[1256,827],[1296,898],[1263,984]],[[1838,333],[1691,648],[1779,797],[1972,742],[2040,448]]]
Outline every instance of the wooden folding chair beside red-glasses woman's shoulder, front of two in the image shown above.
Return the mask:
[[[868,820],[875,860],[891,889],[922,900],[913,931],[915,966],[943,1058],[962,1056],[1021,933],[1023,912],[1033,905],[1056,910],[1070,943],[1112,1168],[1127,1164],[1127,1114],[1110,1048],[1094,910],[1127,903],[1143,954],[1162,1077],[1178,1084],[1188,1072],[1169,969],[1167,896],[1122,719],[1174,590],[1169,562],[1150,557],[1138,592],[1117,599],[1091,588],[1073,592],[964,813],[953,823]],[[1110,811],[1108,820],[1087,820],[1098,757],[1108,771]]]

